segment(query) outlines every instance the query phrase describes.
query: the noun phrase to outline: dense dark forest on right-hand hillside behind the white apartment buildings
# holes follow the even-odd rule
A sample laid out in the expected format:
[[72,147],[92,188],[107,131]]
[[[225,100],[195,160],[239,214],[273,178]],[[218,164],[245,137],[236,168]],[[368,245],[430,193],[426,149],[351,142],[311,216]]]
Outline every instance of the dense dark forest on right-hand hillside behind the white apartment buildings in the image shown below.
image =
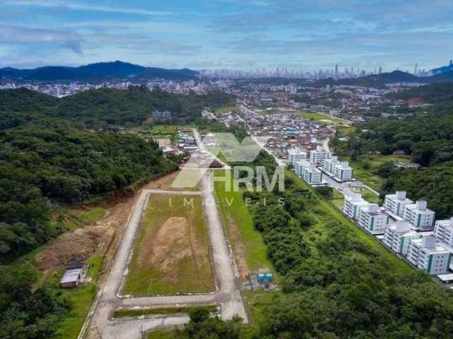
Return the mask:
[[453,215],[453,84],[420,86],[394,96],[402,100],[420,97],[432,105],[416,109],[403,119],[394,117],[357,124],[348,142],[339,142],[338,135],[331,145],[336,153],[350,155],[352,160],[367,154],[390,155],[403,150],[422,168],[383,165],[377,169],[376,174],[386,179],[382,195],[397,189],[407,191],[412,199],[428,200],[437,218],[449,218]]

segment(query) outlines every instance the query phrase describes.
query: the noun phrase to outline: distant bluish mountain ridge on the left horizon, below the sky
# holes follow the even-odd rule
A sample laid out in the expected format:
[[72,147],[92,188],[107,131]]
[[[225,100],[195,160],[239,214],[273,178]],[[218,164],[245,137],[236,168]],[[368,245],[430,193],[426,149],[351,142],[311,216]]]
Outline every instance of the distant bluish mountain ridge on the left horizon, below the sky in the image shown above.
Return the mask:
[[122,61],[100,62],[79,67],[44,66],[38,69],[0,69],[0,78],[23,81],[105,81],[108,79],[164,78],[188,80],[197,76],[190,69],[144,67]]

